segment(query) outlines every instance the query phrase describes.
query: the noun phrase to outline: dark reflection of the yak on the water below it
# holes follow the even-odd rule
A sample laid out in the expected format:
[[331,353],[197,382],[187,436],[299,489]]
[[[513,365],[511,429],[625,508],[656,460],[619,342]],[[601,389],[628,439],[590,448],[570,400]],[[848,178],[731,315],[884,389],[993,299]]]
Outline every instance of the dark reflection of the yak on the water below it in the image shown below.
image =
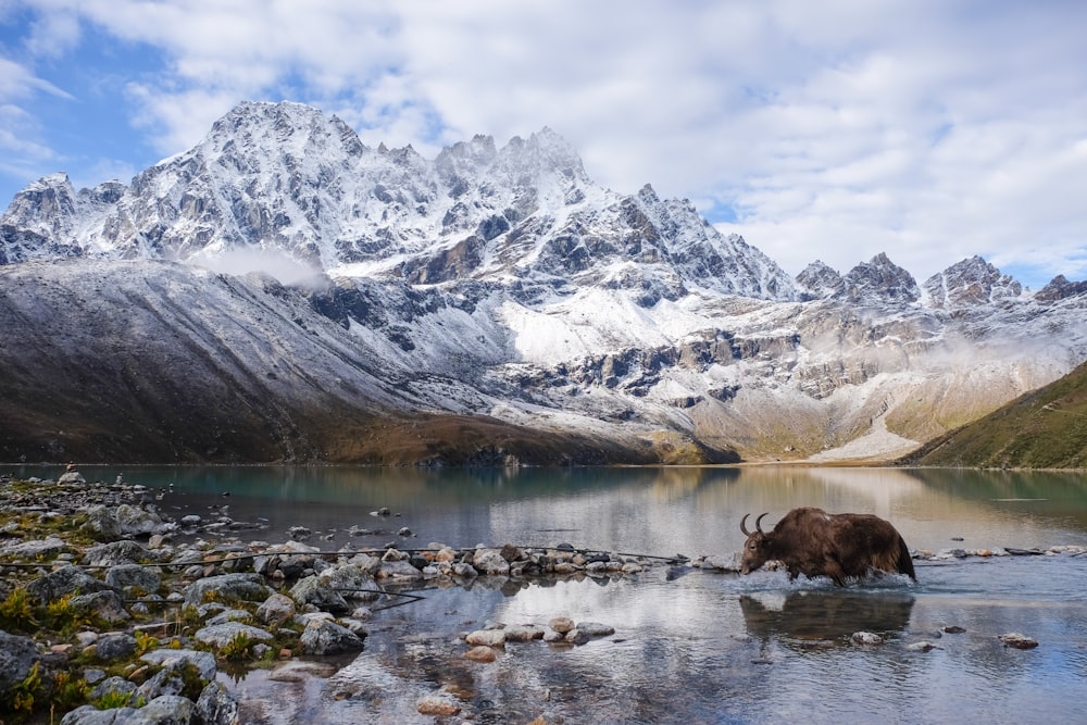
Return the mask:
[[913,597],[889,591],[790,591],[742,595],[748,634],[800,647],[846,641],[857,632],[892,635],[910,624]]

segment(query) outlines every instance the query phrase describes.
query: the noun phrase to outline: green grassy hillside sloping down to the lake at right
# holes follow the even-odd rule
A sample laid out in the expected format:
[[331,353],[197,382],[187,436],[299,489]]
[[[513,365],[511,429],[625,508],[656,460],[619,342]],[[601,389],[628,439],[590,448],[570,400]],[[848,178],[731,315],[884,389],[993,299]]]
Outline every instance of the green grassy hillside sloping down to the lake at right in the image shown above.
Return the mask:
[[1087,363],[974,423],[927,442],[898,463],[1087,467]]

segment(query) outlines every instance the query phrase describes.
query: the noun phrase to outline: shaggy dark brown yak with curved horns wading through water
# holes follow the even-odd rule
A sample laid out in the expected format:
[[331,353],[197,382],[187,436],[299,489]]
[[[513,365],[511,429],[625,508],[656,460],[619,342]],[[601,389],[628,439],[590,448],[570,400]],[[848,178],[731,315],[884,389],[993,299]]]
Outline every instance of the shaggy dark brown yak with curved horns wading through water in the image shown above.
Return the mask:
[[747,517],[740,532],[747,536],[740,573],[750,574],[771,560],[779,560],[789,570],[789,580],[803,574],[808,578],[828,576],[839,587],[846,577],[863,577],[875,572],[908,574],[914,582],[913,559],[902,536],[890,523],[863,513],[829,514],[822,509],[794,509],[772,532],[763,532],[754,521],[754,532],[747,530]]

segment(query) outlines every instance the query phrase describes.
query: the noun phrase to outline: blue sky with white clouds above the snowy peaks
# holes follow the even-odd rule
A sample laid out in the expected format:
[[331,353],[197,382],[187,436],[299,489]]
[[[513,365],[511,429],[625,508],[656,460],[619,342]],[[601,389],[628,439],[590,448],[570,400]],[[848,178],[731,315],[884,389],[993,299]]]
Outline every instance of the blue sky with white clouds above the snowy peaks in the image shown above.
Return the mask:
[[1087,278],[1079,0],[0,0],[0,209],[128,182],[241,100],[433,158],[550,126],[790,274]]

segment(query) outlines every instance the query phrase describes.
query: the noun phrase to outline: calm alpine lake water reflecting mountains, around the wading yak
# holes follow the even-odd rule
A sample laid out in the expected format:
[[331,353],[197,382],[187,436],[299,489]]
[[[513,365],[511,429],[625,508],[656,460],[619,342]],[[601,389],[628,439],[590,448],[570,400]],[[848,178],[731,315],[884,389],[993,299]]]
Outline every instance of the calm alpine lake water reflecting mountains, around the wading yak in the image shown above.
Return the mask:
[[[1087,474],[859,467],[424,470],[80,466],[139,483],[162,513],[228,515],[241,541],[291,527],[323,551],[555,547],[641,554],[636,574],[390,588],[365,649],[221,675],[245,722],[1072,723],[1087,697]],[[16,467],[22,476],[59,471]],[[917,582],[851,583],[694,565],[741,549],[740,520],[873,513],[911,549]],[[225,509],[224,509],[225,507]],[[387,515],[379,515],[388,509]],[[752,518],[748,526],[752,527]],[[407,529],[407,530],[404,530]],[[205,539],[207,534],[202,534]],[[1053,551],[1053,547],[1070,547]],[[958,551],[957,551],[958,550]],[[977,555],[982,552],[983,555]],[[992,552],[997,555],[985,555]],[[1007,555],[1004,555],[1007,552]],[[404,597],[403,595],[411,595]],[[614,634],[508,642],[465,659],[466,632],[558,616]],[[871,643],[854,637],[871,633]],[[1020,633],[1032,649],[1007,646]],[[421,714],[440,689],[454,716]]]

